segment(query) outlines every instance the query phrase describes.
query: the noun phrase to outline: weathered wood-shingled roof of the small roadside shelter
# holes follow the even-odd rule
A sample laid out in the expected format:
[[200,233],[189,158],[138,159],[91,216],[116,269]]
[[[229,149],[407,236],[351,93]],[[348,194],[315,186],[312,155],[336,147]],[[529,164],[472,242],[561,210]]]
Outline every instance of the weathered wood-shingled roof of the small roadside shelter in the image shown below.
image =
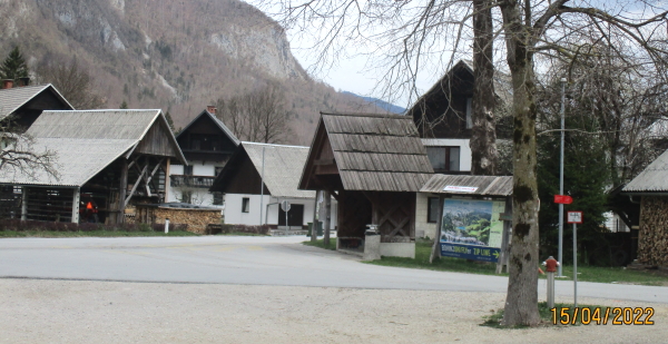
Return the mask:
[[419,191],[434,173],[411,117],[321,115],[299,188],[316,188],[314,163],[325,137],[345,190]]

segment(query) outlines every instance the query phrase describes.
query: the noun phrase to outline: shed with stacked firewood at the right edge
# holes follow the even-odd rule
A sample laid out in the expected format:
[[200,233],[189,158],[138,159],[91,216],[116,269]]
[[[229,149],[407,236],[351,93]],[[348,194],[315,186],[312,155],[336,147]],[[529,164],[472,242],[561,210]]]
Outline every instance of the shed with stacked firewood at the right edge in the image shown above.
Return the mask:
[[668,269],[668,150],[664,151],[622,194],[640,203],[638,263]]

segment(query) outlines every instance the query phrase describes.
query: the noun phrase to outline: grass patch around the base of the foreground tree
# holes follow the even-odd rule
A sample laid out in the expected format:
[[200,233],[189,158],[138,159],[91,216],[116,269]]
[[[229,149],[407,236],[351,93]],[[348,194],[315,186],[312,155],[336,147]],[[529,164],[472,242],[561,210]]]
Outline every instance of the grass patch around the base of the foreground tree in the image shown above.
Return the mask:
[[[573,305],[571,304],[554,304],[554,311],[548,308],[547,302],[541,302],[538,304],[538,312],[540,314],[540,318],[542,321],[542,326],[554,326],[554,325],[581,325],[582,324],[582,311],[583,308],[588,308],[589,312],[584,311],[589,316],[584,316],[584,321],[587,324],[603,324],[606,322],[606,309],[608,307],[602,306],[593,306],[593,305],[580,305],[578,306],[580,309],[573,320]],[[564,311],[562,314],[561,311]],[[598,309],[598,313],[597,313]],[[611,323],[613,320],[612,313],[608,317],[608,323]],[[483,323],[480,326],[488,326],[494,328],[527,328],[528,326],[503,326],[501,325],[501,321],[503,320],[503,308],[498,309],[492,315],[483,316]]]

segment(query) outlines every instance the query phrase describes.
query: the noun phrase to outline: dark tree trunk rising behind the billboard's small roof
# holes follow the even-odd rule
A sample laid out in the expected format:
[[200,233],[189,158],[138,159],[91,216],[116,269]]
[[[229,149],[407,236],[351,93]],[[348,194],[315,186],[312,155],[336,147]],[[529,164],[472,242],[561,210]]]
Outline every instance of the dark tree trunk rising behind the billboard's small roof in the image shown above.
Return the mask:
[[471,134],[471,174],[497,173],[497,119],[494,108],[494,51],[491,0],[473,0],[473,130]]

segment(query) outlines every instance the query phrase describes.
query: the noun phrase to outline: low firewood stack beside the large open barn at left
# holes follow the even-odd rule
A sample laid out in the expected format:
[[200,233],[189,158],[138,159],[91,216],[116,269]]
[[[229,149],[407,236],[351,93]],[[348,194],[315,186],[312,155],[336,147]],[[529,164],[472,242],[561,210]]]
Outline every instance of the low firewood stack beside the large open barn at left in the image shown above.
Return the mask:
[[179,209],[179,208],[151,208],[154,222],[165,224],[169,218],[170,224],[186,224],[188,232],[205,234],[208,224],[220,224],[219,209]]

